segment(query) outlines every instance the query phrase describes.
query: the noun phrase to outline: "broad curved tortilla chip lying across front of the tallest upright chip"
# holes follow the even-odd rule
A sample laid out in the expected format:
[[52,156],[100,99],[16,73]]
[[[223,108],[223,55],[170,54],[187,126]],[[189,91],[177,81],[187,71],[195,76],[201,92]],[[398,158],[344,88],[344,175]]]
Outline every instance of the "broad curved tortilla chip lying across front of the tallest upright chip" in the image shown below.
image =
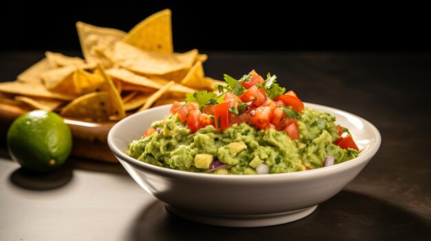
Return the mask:
[[115,43],[114,62],[121,67],[141,74],[163,75],[191,68],[198,50],[184,54],[162,54],[144,51],[123,42]]

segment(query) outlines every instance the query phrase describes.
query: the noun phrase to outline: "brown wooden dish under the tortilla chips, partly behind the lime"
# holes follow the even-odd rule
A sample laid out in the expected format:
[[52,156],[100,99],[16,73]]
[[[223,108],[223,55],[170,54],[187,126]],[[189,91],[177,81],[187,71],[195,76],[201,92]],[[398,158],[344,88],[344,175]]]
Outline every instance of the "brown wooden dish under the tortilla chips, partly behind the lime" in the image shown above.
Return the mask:
[[[10,124],[27,110],[0,102],[0,135],[6,139]],[[72,156],[98,161],[118,162],[107,144],[109,130],[116,122],[84,122],[63,117],[73,135]]]

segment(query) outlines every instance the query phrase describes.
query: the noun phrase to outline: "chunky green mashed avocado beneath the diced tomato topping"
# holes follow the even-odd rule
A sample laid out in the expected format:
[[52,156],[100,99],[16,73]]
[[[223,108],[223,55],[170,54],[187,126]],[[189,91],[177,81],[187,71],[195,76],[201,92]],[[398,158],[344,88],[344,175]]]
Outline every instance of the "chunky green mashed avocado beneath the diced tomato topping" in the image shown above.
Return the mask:
[[[312,109],[297,117],[299,139],[274,128],[260,130],[246,123],[217,130],[213,125],[191,133],[178,115],[169,115],[151,126],[158,130],[134,140],[127,154],[165,168],[216,174],[257,174],[262,166],[269,173],[321,168],[325,159],[341,163],[357,157],[357,150],[341,149],[335,117]],[[211,168],[218,162],[222,168]],[[264,164],[264,165],[262,165]]]

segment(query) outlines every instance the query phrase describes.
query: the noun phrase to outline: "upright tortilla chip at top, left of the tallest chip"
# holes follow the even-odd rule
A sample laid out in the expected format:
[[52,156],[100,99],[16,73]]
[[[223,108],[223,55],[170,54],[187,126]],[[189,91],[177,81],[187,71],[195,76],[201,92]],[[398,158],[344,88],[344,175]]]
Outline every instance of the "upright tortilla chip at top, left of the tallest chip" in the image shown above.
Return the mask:
[[114,43],[123,40],[125,36],[125,32],[121,30],[97,27],[83,22],[76,22],[76,30],[84,58],[89,63],[98,61],[98,54],[96,54],[94,47],[109,55]]

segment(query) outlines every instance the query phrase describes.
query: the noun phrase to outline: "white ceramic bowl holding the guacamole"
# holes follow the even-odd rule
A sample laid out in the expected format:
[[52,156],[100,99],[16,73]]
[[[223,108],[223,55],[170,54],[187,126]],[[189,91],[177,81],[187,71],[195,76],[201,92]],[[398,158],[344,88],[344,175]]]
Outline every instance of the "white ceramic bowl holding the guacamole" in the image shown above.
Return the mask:
[[169,114],[171,105],[130,115],[109,131],[112,152],[144,190],[166,204],[173,214],[209,225],[261,227],[304,218],[319,203],[340,192],[379,149],[380,133],[370,122],[335,108],[305,103],[326,111],[350,130],[362,152],[359,157],[326,168],[263,175],[217,175],[160,168],[125,154],[154,120]]

